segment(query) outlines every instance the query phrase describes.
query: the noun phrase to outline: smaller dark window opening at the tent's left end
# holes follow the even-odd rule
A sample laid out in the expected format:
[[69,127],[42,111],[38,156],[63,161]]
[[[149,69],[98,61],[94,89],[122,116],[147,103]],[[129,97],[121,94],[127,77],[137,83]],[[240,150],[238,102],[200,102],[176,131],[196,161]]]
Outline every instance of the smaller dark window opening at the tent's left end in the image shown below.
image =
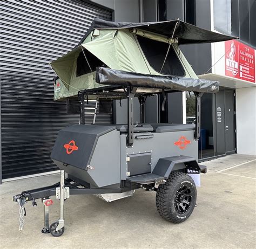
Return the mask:
[[[94,56],[91,52],[84,49],[85,56],[90,64],[92,71],[96,71],[96,67],[105,66],[104,63]],[[86,73],[91,73],[90,67],[84,57],[83,51],[79,53],[77,58],[77,77]]]

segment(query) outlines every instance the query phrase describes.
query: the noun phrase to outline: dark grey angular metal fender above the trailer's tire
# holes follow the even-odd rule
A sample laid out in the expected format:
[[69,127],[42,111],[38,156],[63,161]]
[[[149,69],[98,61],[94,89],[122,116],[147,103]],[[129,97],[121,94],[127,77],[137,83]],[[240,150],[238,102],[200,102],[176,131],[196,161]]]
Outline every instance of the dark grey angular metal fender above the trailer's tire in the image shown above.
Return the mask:
[[195,173],[200,172],[200,166],[194,157],[180,155],[159,158],[152,173],[168,178],[172,171],[180,169],[189,169]]

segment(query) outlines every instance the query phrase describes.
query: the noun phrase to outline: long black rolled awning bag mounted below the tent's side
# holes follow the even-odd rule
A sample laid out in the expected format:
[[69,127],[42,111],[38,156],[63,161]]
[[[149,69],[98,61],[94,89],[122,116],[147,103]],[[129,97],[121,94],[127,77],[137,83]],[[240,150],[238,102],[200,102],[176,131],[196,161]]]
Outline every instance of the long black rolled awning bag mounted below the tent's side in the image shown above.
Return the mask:
[[160,88],[202,93],[217,93],[219,91],[218,81],[141,74],[113,70],[105,67],[97,67],[96,82],[103,85]]

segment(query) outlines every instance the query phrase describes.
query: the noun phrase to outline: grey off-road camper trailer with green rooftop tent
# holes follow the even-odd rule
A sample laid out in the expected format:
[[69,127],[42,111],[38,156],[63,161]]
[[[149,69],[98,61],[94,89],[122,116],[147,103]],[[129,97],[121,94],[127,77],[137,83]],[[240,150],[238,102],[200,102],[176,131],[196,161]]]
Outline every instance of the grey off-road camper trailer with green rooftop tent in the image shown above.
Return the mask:
[[[203,93],[218,92],[219,82],[198,79],[179,45],[230,39],[181,20],[116,23],[95,19],[80,43],[51,63],[57,74],[55,100],[73,97],[80,105],[79,123],[60,130],[52,149],[60,182],[14,196],[20,215],[26,202],[35,205],[36,199],[42,199],[42,232],[57,237],[64,233],[64,200],[71,195],[93,194],[112,202],[145,189],[156,191],[157,211],[164,219],[181,223],[190,217],[197,201],[196,184],[200,174],[206,173],[198,164],[200,98]],[[145,123],[147,98],[163,95],[164,108],[166,94],[177,91],[196,95],[194,124]],[[136,123],[134,98],[140,102]],[[127,100],[126,123],[96,124],[94,118],[86,124],[87,101],[122,99]],[[60,200],[60,217],[49,226],[53,196]]]

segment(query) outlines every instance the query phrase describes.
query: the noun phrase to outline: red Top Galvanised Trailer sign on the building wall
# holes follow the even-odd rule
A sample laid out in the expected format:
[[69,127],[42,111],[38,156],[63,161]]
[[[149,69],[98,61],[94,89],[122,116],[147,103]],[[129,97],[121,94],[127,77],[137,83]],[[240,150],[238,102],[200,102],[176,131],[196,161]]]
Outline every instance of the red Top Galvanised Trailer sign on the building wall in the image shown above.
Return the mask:
[[237,40],[225,41],[225,75],[255,83],[254,49]]

